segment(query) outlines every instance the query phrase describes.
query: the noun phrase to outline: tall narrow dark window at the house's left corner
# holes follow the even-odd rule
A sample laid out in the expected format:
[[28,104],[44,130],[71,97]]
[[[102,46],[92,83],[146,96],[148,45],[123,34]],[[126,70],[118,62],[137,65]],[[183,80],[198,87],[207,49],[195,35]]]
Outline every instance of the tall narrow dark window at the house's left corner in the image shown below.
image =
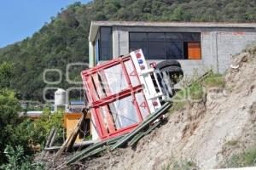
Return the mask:
[[112,28],[100,28],[100,60],[113,59]]

